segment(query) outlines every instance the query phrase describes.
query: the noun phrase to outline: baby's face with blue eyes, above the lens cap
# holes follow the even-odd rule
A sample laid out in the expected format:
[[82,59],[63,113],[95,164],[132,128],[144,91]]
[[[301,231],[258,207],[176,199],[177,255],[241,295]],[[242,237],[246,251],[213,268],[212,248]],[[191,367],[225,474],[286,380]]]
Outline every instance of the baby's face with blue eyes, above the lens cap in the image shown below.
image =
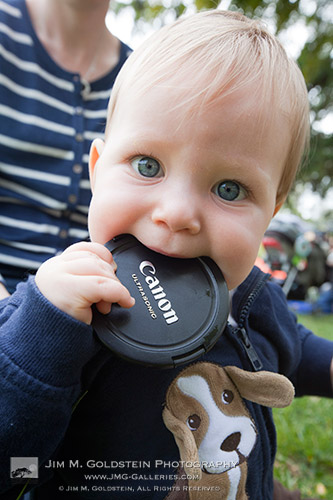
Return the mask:
[[92,241],[129,233],[169,256],[209,256],[238,286],[274,214],[289,148],[282,118],[260,127],[250,90],[193,117],[177,90],[129,92],[91,161]]

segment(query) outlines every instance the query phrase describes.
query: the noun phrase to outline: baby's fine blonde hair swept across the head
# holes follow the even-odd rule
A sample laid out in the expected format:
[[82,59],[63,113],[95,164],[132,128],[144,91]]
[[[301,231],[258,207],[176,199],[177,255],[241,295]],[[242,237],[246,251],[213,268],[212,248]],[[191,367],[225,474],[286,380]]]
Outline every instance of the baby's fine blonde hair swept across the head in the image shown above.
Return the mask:
[[179,18],[154,33],[130,55],[118,74],[106,134],[128,89],[134,88],[140,99],[153,86],[165,86],[167,92],[173,84],[184,92],[182,105],[196,100],[200,107],[253,83],[258,99],[269,106],[270,118],[283,113],[290,124],[290,148],[277,193],[280,203],[308,146],[309,106],[301,71],[260,21],[236,12],[208,10]]

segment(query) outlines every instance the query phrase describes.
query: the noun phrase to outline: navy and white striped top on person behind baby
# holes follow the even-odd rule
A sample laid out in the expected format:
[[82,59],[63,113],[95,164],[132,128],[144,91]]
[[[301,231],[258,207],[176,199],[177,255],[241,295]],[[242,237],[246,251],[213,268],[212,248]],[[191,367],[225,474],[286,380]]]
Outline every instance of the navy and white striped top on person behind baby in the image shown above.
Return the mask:
[[117,66],[87,83],[59,67],[34,32],[25,0],[0,0],[0,273],[27,270],[87,238],[88,153],[103,137]]

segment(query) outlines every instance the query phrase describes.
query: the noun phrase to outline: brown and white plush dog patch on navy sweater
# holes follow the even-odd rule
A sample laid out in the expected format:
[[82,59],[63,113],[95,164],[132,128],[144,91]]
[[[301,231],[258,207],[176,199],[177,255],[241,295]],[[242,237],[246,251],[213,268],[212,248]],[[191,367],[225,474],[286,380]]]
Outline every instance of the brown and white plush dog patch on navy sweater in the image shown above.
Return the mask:
[[167,499],[246,500],[247,458],[257,431],[242,398],[285,407],[293,397],[291,382],[276,373],[206,362],[185,368],[167,391],[163,420],[187,479]]

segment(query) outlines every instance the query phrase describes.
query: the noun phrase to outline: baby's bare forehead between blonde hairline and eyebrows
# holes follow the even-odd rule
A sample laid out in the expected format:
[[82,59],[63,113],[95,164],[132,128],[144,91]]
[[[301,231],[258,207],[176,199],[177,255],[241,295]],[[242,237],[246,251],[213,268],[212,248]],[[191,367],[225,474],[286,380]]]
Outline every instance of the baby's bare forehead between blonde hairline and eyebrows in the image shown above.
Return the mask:
[[[191,156],[193,165],[195,152],[198,157],[204,152],[206,168],[222,156],[233,168],[244,164],[244,155],[249,164],[253,157],[261,159],[268,150],[276,151],[277,130],[288,129],[283,115],[274,117],[272,106],[258,99],[256,90],[246,85],[207,98],[200,89],[192,92],[190,87],[164,82],[140,96],[132,88],[117,109],[112,140],[120,138],[125,147],[159,159],[165,157],[164,152],[169,157],[172,151],[175,155],[181,151]],[[285,137],[285,133],[280,135]],[[279,158],[288,150],[288,137],[283,151],[276,151]]]

